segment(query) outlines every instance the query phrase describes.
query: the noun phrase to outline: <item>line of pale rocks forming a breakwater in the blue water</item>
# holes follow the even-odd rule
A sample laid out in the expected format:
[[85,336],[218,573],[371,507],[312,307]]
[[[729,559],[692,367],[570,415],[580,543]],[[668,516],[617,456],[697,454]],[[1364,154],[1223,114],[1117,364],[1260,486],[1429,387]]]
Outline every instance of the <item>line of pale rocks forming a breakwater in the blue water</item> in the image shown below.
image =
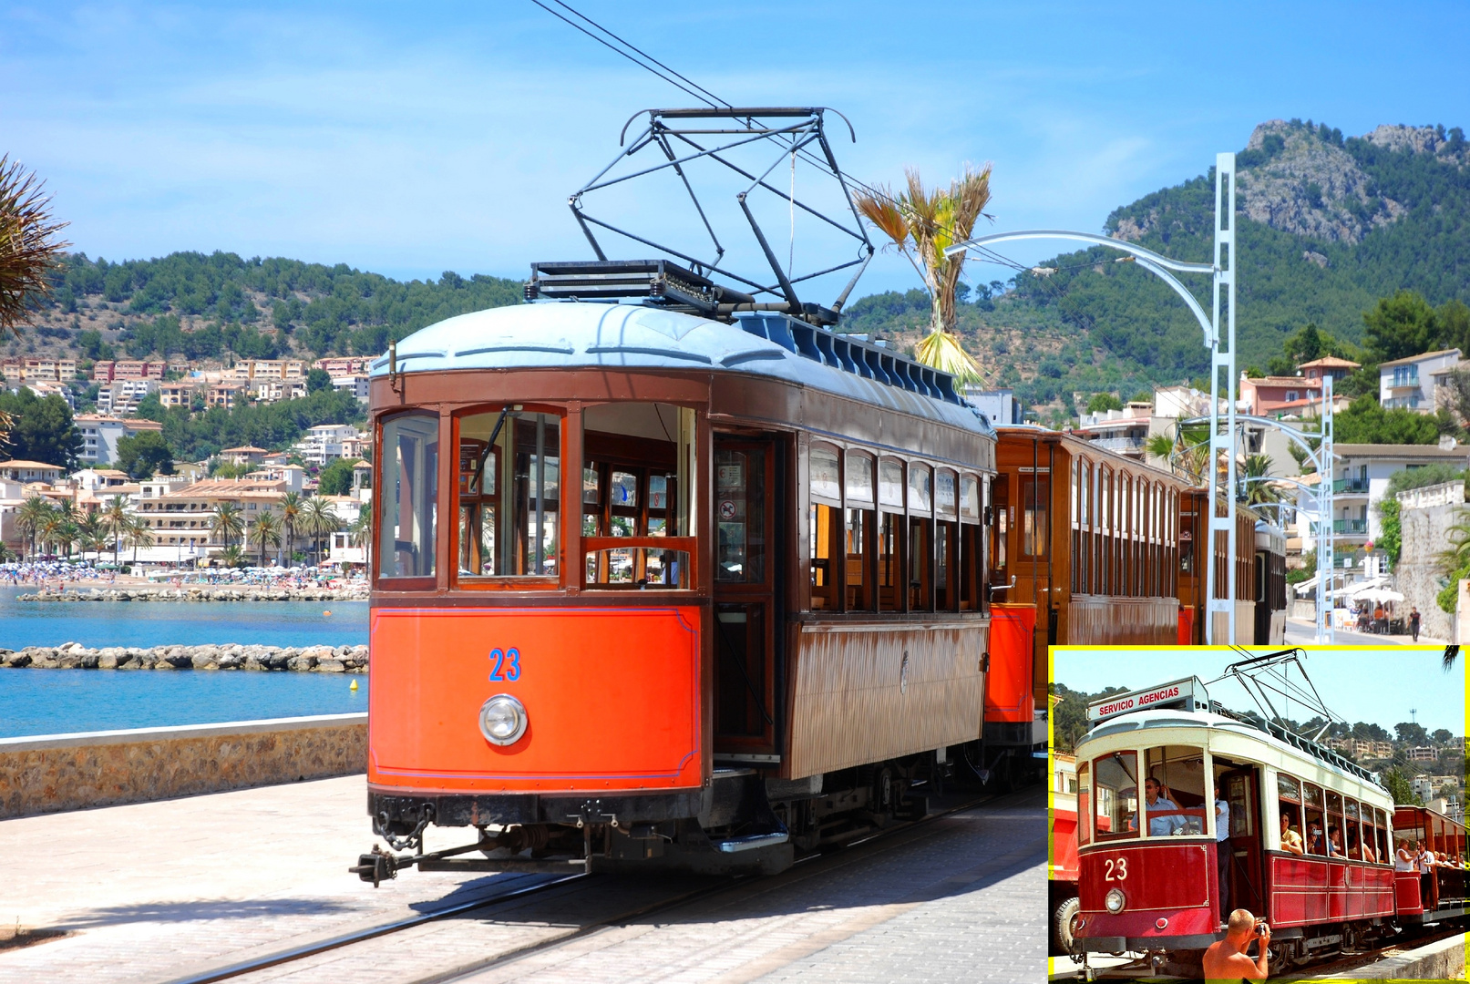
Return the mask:
[[368,673],[368,646],[60,646],[0,649],[0,667],[19,670],[290,670]]

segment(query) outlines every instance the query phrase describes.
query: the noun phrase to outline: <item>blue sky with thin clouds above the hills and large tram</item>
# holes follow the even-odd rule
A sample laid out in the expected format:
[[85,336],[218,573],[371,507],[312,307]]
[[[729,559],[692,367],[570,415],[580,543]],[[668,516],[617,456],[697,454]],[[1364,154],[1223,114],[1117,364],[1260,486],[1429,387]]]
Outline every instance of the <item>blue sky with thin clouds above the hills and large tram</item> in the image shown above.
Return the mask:
[[[1470,125],[1464,3],[576,6],[736,104],[842,110],[858,140],[836,153],[864,181],[994,162],[995,229],[1095,231],[1266,119]],[[0,151],[94,257],[400,278],[588,258],[567,194],[634,112],[688,101],[528,0],[9,0],[0,91]],[[889,256],[858,295],[908,286]]]

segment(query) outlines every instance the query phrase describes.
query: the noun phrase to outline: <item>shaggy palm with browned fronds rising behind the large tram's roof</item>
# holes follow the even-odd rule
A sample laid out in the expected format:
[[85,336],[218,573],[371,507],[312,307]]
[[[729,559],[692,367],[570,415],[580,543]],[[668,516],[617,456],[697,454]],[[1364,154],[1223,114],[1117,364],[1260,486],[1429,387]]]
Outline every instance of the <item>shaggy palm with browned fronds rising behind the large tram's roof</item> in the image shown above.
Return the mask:
[[[914,350],[919,361],[951,373],[960,383],[979,382],[980,367],[954,335],[954,300],[964,272],[964,251],[945,256],[944,251],[964,242],[975,223],[985,214],[991,200],[991,166],[964,173],[948,188],[923,187],[919,172],[904,170],[908,187],[897,197],[888,188],[858,192],[857,210],[892,239],[929,291],[932,305],[929,335]],[[989,217],[989,216],[986,216]]]

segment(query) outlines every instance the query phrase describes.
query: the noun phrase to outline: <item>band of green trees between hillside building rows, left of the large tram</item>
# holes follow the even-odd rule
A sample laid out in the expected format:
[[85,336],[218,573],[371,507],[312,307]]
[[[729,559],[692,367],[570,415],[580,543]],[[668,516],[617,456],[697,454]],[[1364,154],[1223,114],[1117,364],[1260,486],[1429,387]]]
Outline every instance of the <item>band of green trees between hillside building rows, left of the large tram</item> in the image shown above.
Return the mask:
[[285,448],[318,424],[362,419],[363,405],[350,392],[323,391],[265,405],[210,407],[193,416],[182,407],[169,407],[163,416],[163,436],[179,458],[203,461],[222,448],[240,445]]

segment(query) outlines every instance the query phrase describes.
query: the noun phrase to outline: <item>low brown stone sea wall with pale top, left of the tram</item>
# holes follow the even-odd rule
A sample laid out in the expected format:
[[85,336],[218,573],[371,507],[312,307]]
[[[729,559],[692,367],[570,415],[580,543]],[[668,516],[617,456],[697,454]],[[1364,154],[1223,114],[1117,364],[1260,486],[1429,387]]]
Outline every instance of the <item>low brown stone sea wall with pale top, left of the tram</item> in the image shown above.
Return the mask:
[[0,818],[350,775],[366,768],[366,714],[0,739]]

